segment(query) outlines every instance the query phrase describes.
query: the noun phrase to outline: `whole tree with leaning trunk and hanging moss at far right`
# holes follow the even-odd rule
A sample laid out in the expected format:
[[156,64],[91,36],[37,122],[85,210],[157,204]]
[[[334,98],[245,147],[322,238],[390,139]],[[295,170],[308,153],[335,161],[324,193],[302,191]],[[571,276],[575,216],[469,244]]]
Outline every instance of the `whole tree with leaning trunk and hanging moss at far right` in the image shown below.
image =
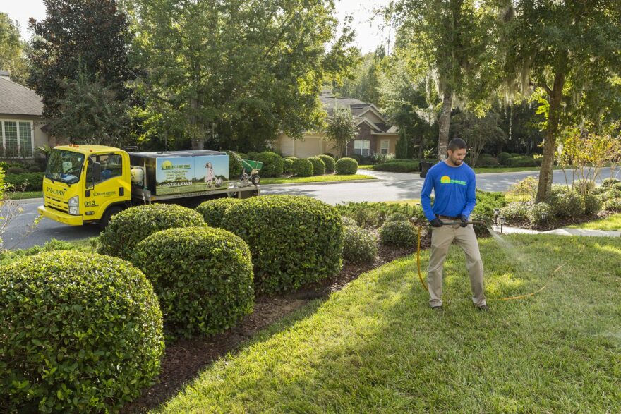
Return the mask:
[[[585,87],[621,65],[619,0],[505,2],[505,71],[521,87],[545,91],[545,140],[536,201],[545,200],[564,109]],[[566,115],[567,113],[565,113]]]

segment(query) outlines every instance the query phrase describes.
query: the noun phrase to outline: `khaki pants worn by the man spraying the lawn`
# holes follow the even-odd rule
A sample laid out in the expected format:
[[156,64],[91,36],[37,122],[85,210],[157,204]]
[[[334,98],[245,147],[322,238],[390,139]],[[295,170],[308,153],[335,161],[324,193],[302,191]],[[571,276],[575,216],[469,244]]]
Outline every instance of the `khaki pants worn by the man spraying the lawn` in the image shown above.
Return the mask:
[[483,260],[478,251],[478,242],[474,234],[474,227],[469,224],[466,227],[458,225],[444,225],[433,227],[431,231],[431,257],[427,274],[427,286],[429,288],[429,305],[442,305],[442,272],[444,260],[451,243],[457,241],[466,254],[466,269],[470,275],[470,287],[472,289],[472,301],[474,305],[486,304],[483,292]]

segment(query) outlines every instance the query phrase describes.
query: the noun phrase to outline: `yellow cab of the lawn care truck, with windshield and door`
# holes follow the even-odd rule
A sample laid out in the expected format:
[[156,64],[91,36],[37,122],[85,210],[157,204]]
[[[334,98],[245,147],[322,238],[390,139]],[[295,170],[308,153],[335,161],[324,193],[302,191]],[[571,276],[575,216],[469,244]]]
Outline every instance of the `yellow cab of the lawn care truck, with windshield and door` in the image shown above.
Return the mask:
[[131,203],[129,155],[104,145],[61,145],[43,178],[42,216],[64,224],[107,224]]

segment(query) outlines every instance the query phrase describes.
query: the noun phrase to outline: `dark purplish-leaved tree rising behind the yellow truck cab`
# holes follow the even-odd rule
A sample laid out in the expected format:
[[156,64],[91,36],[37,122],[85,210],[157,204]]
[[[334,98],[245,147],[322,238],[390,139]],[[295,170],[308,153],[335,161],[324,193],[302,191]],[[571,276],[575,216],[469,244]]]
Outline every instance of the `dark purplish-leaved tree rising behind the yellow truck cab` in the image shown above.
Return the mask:
[[126,14],[116,0],[44,0],[47,18],[30,19],[34,32],[28,85],[43,99],[44,116],[60,118],[66,88],[78,80],[99,82],[115,90],[119,100],[128,96],[124,83],[133,78],[128,66],[130,42]]

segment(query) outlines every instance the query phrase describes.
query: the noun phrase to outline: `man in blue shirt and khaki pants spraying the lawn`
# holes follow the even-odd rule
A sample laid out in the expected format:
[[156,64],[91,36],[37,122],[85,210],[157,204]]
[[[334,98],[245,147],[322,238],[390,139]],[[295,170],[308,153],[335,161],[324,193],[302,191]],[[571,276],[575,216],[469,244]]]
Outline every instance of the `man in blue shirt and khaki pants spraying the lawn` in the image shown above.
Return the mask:
[[[470,213],[476,205],[476,179],[474,171],[464,163],[466,142],[461,138],[452,139],[448,145],[447,156],[444,162],[429,169],[421,191],[421,205],[425,217],[433,226],[427,274],[429,305],[433,310],[442,310],[444,260],[451,243],[457,241],[466,254],[472,301],[477,310],[488,312],[483,292],[483,261],[478,251],[474,227],[468,224]],[[433,207],[429,197],[432,189],[435,194]]]

